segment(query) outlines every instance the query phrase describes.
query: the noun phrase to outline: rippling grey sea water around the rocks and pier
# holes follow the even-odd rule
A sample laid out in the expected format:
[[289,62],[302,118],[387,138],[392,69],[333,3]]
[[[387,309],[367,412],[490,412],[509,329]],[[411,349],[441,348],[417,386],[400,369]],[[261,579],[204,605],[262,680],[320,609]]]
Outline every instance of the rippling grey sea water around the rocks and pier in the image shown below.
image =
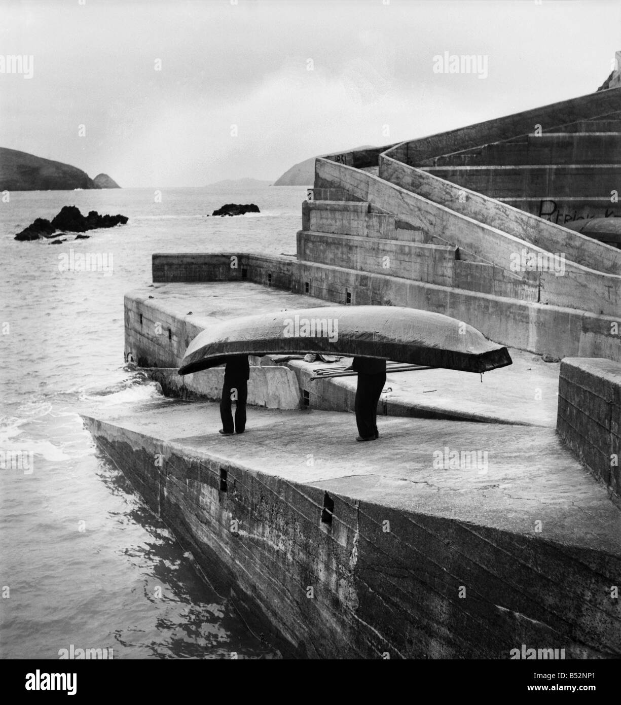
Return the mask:
[[[0,204],[1,658],[54,659],[71,646],[114,658],[278,656],[202,580],[78,411],[159,397],[123,361],[123,294],[151,283],[153,252],[293,254],[305,195],[128,188],[15,192]],[[207,217],[230,202],[261,213]],[[64,205],[129,221],[61,245],[13,240]],[[112,266],[75,266],[80,256]]]

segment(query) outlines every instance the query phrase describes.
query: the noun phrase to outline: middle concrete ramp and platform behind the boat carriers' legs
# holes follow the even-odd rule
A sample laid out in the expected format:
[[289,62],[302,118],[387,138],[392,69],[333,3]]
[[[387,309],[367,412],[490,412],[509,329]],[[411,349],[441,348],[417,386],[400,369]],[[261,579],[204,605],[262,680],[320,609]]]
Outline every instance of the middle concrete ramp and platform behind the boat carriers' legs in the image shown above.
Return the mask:
[[[153,288],[148,290],[153,291]],[[133,307],[142,302],[140,311],[143,316],[142,331],[139,329],[138,308],[130,317],[132,326],[125,329],[128,354],[134,355],[135,360],[140,359],[142,367],[162,368],[161,371],[150,371],[150,375],[159,381],[168,395],[190,399],[219,399],[222,388],[221,372],[217,371],[213,376],[205,377],[199,376],[203,373],[191,377],[188,375],[185,377],[185,385],[184,378],[176,374],[185,353],[185,347],[178,342],[177,331],[181,322],[191,320],[197,335],[212,321],[227,316],[245,315],[249,298],[252,298],[253,310],[257,313],[281,307],[293,308],[295,303],[290,304],[292,300],[305,303],[310,301],[311,305],[325,305],[324,301],[307,296],[291,297],[285,293],[284,298],[280,298],[279,293],[283,294],[276,289],[266,289],[245,282],[192,286],[178,283],[160,284],[155,287],[152,294],[155,298],[152,300],[145,298],[142,292],[137,298],[128,295]],[[192,316],[184,316],[184,312],[190,310],[193,312]],[[162,335],[152,332],[154,321],[163,325]],[[166,332],[168,327],[171,327],[172,331],[171,341],[168,340]],[[147,335],[148,343],[145,341]],[[171,352],[174,353],[172,356]],[[386,388],[391,387],[392,391],[381,397],[379,412],[395,416],[469,419],[553,427],[556,419],[558,362],[542,362],[541,357],[517,349],[511,349],[510,355],[513,364],[485,374],[483,384],[477,374],[448,369],[424,369],[389,375]],[[172,371],[166,362],[171,359],[176,361],[176,367]],[[252,364],[285,364],[290,370],[285,373],[283,369],[283,374],[289,376],[286,380],[277,382],[271,374],[272,367],[268,368],[270,372],[262,372],[262,367],[253,368],[249,386],[249,399],[252,399],[250,403],[264,405],[263,400],[266,400],[269,408],[297,408],[300,391],[307,391],[312,408],[333,411],[351,411],[354,408],[356,377],[309,381],[314,369],[327,367],[324,362],[290,360],[283,363],[278,357],[266,356],[252,358]],[[348,364],[347,359],[343,358],[340,364]],[[297,383],[291,377],[294,372]],[[293,384],[297,388],[297,398],[293,397]]]

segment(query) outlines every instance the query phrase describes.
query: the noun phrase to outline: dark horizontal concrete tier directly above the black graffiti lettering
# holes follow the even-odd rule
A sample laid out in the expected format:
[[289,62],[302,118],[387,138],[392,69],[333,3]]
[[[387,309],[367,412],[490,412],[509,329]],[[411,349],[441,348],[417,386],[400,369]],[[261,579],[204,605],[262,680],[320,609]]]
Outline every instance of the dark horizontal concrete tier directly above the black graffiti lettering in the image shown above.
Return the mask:
[[426,166],[434,176],[491,198],[601,196],[619,183],[621,164]]

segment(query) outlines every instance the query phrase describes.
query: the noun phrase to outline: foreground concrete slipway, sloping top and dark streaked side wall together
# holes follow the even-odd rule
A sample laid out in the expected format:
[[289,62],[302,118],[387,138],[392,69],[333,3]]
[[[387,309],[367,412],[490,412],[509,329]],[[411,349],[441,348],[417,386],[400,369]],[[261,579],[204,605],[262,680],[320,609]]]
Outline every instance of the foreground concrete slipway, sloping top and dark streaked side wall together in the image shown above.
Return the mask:
[[[285,655],[621,655],[621,513],[553,429],[386,418],[356,443],[352,415],[257,409],[223,438],[217,405],[167,401],[85,420]],[[448,450],[487,462],[434,467]]]

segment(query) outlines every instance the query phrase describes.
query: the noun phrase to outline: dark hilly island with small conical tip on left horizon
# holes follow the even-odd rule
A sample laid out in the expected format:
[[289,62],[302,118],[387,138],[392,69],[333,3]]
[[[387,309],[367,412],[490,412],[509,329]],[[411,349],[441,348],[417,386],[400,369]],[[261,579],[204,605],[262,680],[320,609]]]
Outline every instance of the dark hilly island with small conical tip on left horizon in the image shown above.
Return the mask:
[[[102,185],[104,181],[113,185]],[[107,174],[92,179],[85,171],[70,164],[0,147],[0,191],[66,191],[76,188],[120,187]]]

